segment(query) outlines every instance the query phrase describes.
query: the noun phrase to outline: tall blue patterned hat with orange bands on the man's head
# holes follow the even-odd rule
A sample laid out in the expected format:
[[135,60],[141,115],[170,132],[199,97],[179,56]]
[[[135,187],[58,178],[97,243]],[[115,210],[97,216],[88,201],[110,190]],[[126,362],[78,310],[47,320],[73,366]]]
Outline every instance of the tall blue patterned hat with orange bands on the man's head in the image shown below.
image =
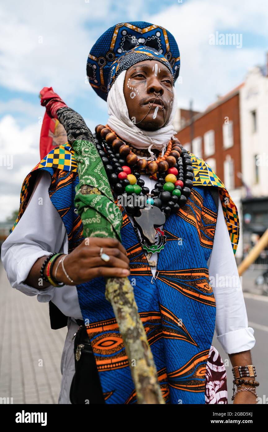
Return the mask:
[[180,51],[171,33],[150,22],[121,22],[106,30],[91,48],[87,78],[97,95],[106,101],[118,75],[143,60],[164,64],[175,84],[180,70]]

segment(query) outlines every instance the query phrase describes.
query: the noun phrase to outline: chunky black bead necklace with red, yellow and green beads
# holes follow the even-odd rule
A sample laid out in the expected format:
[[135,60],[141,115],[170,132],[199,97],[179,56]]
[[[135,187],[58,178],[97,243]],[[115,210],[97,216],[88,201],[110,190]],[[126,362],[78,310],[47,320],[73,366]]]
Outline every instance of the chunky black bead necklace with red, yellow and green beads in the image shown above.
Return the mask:
[[[124,146],[124,151],[117,149],[117,146],[113,146],[112,143],[106,141],[106,136],[110,133],[100,134],[101,128],[98,133],[99,125],[96,127],[96,134],[94,136],[96,141],[96,147],[102,159],[104,168],[109,178],[109,183],[112,186],[113,191],[117,196],[122,196],[123,199],[129,195],[133,196],[133,203],[128,200],[126,206],[126,212],[131,216],[138,216],[140,210],[144,208],[143,203],[140,205],[137,196],[143,195],[147,197],[145,199],[145,206],[156,206],[165,217],[171,213],[177,213],[178,210],[184,206],[187,202],[187,198],[191,194],[193,187],[193,167],[190,155],[185,150],[178,140],[174,140],[173,147],[177,151],[171,152],[171,154],[178,153],[175,165],[168,168],[165,172],[157,172],[156,178],[157,183],[154,189],[149,194],[149,189],[144,186],[144,181],[140,179],[140,172],[138,172],[138,164],[129,166],[126,161],[126,157],[129,151],[125,153],[126,144],[116,138],[116,141],[121,141]],[[109,131],[110,132],[110,131]],[[180,152],[178,152],[180,150]],[[143,172],[145,173],[145,172]],[[169,180],[172,181],[169,181]]]

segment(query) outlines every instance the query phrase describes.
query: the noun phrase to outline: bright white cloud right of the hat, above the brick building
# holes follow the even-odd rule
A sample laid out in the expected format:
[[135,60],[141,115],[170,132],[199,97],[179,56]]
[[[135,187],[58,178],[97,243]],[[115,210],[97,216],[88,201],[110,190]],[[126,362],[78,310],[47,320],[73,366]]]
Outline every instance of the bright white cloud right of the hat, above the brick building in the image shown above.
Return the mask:
[[[262,48],[250,47],[246,40],[267,39],[267,2],[245,0],[193,0],[177,3],[153,16],[146,16],[170,31],[181,54],[181,84],[176,84],[178,105],[187,108],[190,98],[194,109],[204,109],[218,94],[225,94],[240,84],[249,67],[265,62]],[[241,49],[210,45],[209,35],[242,33]],[[250,33],[250,34],[249,34]]]

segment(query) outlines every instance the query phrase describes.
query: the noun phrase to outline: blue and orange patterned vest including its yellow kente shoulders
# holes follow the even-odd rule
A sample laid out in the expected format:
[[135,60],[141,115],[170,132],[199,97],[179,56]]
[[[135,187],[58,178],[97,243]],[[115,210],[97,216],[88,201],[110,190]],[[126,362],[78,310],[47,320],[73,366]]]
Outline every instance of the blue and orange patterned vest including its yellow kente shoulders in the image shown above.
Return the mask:
[[[234,252],[239,238],[237,209],[224,185],[203,159],[190,154],[194,186],[187,204],[168,217],[167,238],[159,253],[153,279],[134,228],[123,212],[122,244],[130,259],[131,284],[140,318],[156,364],[167,403],[205,403],[205,372],[214,328],[216,305],[209,285],[207,260],[212,251],[217,205],[212,186],[218,187]],[[34,167],[22,186],[22,216],[35,173],[51,175],[49,195],[69,238],[69,252],[80,244],[83,227],[74,206],[78,172],[73,150],[66,143],[53,149]],[[95,355],[106,403],[135,403],[128,358],[112,306],[105,298],[105,281],[96,278],[77,286],[82,316]]]

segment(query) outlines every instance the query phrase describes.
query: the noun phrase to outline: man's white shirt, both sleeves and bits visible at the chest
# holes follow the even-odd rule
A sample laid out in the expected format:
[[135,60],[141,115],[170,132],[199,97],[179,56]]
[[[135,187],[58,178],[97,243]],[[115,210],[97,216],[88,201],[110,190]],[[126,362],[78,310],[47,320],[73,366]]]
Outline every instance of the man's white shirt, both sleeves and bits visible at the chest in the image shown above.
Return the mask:
[[[145,175],[140,178],[151,191],[155,181]],[[48,194],[50,181],[48,172],[38,174],[25,212],[2,245],[1,258],[12,288],[26,295],[37,295],[39,302],[52,300],[66,316],[82,319],[75,286],[48,286],[37,289],[24,283],[38,258],[51,252],[68,254],[67,232]],[[131,222],[133,223],[132,219]],[[157,260],[157,254],[153,254],[151,260]],[[242,287],[220,198],[208,268],[216,302],[215,330],[218,341],[228,354],[251,349],[255,345],[254,330],[248,327]],[[155,272],[156,270],[152,269],[153,276]],[[238,281],[238,286],[237,283],[226,286],[226,280]]]

